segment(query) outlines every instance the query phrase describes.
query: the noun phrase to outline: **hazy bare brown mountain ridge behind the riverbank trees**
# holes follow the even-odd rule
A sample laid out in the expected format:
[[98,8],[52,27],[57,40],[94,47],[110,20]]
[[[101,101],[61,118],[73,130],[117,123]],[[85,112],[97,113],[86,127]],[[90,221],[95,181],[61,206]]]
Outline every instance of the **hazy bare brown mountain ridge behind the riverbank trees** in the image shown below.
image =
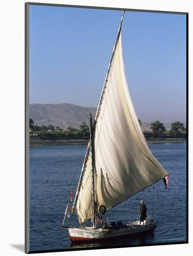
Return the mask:
[[[89,115],[92,114],[93,118],[96,115],[96,108],[80,107],[73,104],[30,104],[29,112],[30,118],[35,121],[35,125],[52,124],[54,127],[66,129],[71,126],[80,128],[82,122],[88,124]],[[160,120],[161,121],[161,120]],[[184,123],[186,127],[186,123]],[[166,130],[171,128],[171,123],[164,123]],[[142,130],[150,131],[150,123],[142,122]]]

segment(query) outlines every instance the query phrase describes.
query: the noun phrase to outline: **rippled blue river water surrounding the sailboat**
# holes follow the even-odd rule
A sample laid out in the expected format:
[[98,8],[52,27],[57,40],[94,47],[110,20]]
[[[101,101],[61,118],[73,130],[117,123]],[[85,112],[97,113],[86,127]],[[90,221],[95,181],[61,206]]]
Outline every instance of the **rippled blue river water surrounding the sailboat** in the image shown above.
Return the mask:
[[[75,194],[87,146],[30,147],[30,251],[50,249],[123,246],[186,241],[186,143],[150,143],[162,166],[171,173],[169,187],[157,182],[111,209],[110,221],[139,218],[141,200],[157,227],[151,233],[116,241],[71,244],[67,229],[61,227],[70,190]],[[77,225],[76,216],[67,225]]]

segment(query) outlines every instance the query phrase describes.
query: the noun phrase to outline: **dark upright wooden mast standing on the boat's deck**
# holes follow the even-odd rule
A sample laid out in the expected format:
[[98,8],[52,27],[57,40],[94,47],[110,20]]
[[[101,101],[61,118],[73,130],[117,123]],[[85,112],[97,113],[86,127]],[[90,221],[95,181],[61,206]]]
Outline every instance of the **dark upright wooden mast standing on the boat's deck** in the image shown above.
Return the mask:
[[94,153],[94,139],[93,139],[93,120],[90,114],[90,145],[92,155],[92,187],[93,187],[93,227],[96,227],[96,202],[95,202],[95,153]]

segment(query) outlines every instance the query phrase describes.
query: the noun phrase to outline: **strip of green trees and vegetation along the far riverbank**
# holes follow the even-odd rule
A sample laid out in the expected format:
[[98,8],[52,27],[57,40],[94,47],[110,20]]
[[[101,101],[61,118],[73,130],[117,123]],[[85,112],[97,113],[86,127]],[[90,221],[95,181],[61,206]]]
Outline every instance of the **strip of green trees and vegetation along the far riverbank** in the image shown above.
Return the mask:
[[[141,121],[138,119],[140,125]],[[86,122],[80,125],[80,129],[68,127],[62,129],[60,127],[54,127],[52,124],[45,125],[34,125],[33,119],[29,120],[30,135],[38,135],[41,140],[89,140],[89,127]],[[155,121],[151,123],[151,131],[143,131],[146,139],[157,140],[167,138],[186,138],[186,128],[183,123],[179,121],[171,124],[171,129],[166,131],[163,123]]]

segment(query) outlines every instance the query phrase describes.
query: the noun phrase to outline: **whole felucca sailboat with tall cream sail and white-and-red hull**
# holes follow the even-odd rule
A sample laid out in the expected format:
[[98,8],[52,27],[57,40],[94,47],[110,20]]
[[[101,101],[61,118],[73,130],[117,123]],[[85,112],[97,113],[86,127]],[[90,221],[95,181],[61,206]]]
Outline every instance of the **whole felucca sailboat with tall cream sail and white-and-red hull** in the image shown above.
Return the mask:
[[[106,211],[164,180],[169,174],[148,148],[129,94],[122,53],[121,15],[117,39],[102,88],[94,121],[90,115],[87,146],[73,201],[80,227],[63,227],[72,242],[94,241],[132,235],[155,228],[153,217],[145,222],[104,221]],[[72,201],[72,195],[70,196]],[[91,220],[92,225],[88,225]],[[102,222],[102,224],[99,222]]]

